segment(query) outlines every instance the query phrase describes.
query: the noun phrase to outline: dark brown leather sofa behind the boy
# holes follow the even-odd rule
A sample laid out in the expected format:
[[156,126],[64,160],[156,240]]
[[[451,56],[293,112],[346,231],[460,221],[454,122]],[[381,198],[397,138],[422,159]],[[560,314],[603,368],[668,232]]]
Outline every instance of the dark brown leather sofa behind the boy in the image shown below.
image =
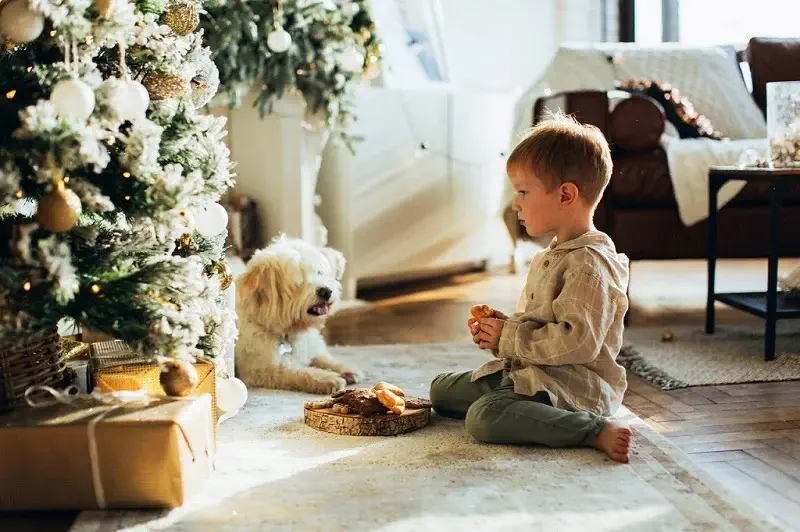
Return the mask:
[[[753,98],[764,112],[766,83],[800,80],[800,39],[751,39],[744,59]],[[686,227],[678,217],[666,154],[658,143],[664,112],[655,100],[640,95],[617,100],[603,91],[562,92],[536,102],[534,123],[558,108],[599,127],[611,144],[614,172],[595,224],[619,251],[631,259],[705,257],[707,223]],[[768,191],[766,184],[750,183],[720,210],[720,257],[766,256]],[[800,188],[784,200],[782,212],[781,255],[800,256]],[[507,213],[512,237],[519,231],[513,219]]]

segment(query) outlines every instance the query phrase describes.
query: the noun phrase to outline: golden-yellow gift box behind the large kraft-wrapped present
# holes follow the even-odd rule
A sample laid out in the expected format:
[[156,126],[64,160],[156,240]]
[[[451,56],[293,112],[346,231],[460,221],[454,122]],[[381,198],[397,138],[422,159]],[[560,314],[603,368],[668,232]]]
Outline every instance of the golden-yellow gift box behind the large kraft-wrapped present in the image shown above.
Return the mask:
[[[161,367],[144,360],[134,353],[126,343],[120,341],[91,344],[90,385],[92,390],[102,393],[143,390],[148,395],[166,395],[161,387]],[[211,395],[211,419],[214,423],[214,441],[217,438],[217,423],[222,415],[217,406],[216,367],[208,360],[194,363],[200,381],[192,395]]]

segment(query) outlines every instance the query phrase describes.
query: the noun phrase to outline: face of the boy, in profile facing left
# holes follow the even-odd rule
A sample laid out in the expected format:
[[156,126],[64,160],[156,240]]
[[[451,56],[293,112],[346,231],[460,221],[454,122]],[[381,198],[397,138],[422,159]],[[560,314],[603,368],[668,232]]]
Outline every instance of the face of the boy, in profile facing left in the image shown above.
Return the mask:
[[511,206],[528,235],[536,238],[555,232],[563,214],[558,187],[548,191],[535,175],[521,170],[511,172],[509,178],[517,191]]

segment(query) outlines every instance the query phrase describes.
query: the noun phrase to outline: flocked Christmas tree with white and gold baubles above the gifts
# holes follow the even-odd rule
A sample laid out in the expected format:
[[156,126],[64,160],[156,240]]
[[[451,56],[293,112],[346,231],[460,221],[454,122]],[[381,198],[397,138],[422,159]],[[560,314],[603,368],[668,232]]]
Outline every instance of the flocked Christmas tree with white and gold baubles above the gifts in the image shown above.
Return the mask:
[[[0,345],[69,318],[146,356],[215,357],[232,186],[192,0],[0,3]],[[8,244],[8,245],[6,245]]]

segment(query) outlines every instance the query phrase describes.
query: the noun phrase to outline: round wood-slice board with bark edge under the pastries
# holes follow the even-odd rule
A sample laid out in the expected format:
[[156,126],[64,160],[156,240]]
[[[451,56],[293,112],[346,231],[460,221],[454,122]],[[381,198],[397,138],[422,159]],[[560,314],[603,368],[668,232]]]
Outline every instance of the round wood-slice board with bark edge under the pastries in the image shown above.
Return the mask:
[[402,414],[363,417],[357,414],[340,414],[330,408],[304,409],[309,427],[345,436],[397,436],[421,429],[431,420],[431,409],[406,410]]

